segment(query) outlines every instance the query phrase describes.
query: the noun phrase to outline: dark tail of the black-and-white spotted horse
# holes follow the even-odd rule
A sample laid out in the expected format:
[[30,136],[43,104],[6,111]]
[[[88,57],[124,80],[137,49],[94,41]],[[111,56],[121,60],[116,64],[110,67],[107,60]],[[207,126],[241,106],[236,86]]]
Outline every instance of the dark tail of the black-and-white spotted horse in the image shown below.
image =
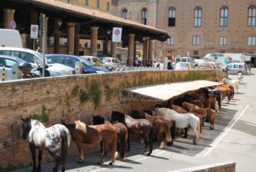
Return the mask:
[[61,150],[60,150],[60,161],[63,167],[67,164],[68,158],[68,146],[70,145],[70,136],[69,131],[62,130],[60,131],[61,137]]

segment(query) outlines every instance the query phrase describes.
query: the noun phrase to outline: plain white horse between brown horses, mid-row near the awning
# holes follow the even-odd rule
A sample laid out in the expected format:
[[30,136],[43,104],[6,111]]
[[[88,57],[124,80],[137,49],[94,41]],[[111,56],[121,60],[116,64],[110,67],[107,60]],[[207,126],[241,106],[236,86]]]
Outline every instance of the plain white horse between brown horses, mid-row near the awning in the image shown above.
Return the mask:
[[[176,122],[177,128],[188,128],[191,126],[193,128],[193,132],[195,136],[193,138],[193,144],[196,145],[200,139],[200,119],[196,117],[194,114],[179,114],[175,110],[171,110],[168,108],[155,108],[155,115],[159,115],[162,117],[169,117]],[[187,130],[185,136],[187,136]]]

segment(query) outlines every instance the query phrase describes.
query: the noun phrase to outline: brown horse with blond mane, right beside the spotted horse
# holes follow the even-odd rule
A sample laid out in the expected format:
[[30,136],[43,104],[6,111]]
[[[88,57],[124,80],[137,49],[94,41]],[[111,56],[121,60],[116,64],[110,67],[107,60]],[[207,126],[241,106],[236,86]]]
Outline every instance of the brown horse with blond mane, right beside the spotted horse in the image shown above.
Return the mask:
[[77,149],[79,151],[79,164],[84,162],[84,152],[82,143],[98,144],[103,141],[104,151],[101,157],[101,161],[98,164],[103,164],[108,148],[111,147],[111,161],[109,165],[113,165],[115,162],[115,150],[117,147],[117,131],[114,126],[110,124],[101,125],[87,125],[82,121],[75,121],[75,124],[67,124],[61,120],[61,123],[68,128],[71,133],[72,140],[75,141]]

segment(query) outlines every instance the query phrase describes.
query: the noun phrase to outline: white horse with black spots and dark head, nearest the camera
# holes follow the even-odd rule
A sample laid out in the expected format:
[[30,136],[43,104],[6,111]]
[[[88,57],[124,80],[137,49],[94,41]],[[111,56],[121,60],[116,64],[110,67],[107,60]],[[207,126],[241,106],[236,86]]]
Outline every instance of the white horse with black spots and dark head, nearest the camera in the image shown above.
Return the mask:
[[[41,155],[43,150],[47,150],[51,157],[56,159],[53,172],[58,171],[60,164],[65,171],[67,165],[68,147],[70,146],[70,131],[61,124],[55,124],[46,128],[41,122],[30,119],[20,118],[23,121],[23,139],[27,138],[32,153],[33,169],[32,171],[41,171]],[[36,150],[39,149],[38,166],[36,159]],[[60,155],[58,154],[60,150]]]

